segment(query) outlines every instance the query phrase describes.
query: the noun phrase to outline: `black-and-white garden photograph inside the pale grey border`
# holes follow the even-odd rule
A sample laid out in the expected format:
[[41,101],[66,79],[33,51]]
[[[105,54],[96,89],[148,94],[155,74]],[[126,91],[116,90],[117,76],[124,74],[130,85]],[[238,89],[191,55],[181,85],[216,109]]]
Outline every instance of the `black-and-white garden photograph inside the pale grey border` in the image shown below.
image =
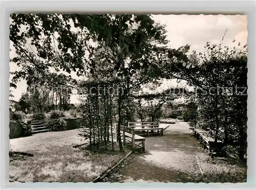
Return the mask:
[[247,182],[246,14],[9,21],[10,182]]

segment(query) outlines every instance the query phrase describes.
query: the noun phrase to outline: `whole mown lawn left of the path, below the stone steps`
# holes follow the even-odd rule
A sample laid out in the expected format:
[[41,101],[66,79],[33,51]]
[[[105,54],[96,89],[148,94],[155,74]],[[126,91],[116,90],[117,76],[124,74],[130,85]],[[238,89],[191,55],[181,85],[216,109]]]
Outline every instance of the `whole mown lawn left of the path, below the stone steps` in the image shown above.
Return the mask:
[[14,151],[33,154],[10,159],[10,178],[19,182],[90,182],[125,154],[73,148],[82,144],[77,134],[76,130],[47,132],[10,140]]

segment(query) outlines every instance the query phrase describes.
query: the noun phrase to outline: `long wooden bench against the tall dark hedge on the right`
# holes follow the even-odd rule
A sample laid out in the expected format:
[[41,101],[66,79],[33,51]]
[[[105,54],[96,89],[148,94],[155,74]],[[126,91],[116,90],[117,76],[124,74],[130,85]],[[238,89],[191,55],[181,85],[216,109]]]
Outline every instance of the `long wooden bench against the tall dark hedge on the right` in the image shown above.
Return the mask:
[[217,142],[215,142],[212,135],[202,128],[194,128],[194,134],[197,139],[199,139],[200,143],[203,144],[203,148],[208,148],[209,154],[211,154],[212,151],[215,153],[221,152],[221,149],[223,148],[223,141],[217,140]]

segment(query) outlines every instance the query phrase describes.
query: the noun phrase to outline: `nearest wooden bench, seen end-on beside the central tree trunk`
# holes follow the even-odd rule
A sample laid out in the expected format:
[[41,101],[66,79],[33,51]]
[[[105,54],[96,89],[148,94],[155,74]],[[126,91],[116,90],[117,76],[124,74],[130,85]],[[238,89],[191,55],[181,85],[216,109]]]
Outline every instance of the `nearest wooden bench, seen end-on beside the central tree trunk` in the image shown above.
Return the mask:
[[[125,147],[126,141],[132,144],[132,149],[135,151],[136,148],[142,149],[145,152],[145,138],[135,134],[134,129],[126,126],[121,126],[123,129],[123,134],[121,138],[123,140],[123,146]],[[140,142],[136,144],[137,142]]]

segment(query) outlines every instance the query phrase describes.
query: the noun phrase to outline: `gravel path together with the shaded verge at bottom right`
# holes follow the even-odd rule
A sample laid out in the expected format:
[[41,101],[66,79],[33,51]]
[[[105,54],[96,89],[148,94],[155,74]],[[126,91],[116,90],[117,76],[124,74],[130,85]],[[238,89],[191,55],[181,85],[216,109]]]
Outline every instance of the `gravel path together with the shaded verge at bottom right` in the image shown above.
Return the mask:
[[[160,124],[160,127],[168,125]],[[171,124],[164,131],[164,136],[146,137],[145,150],[146,153],[134,154],[133,161],[120,169],[109,181],[232,182],[233,177],[236,178],[233,180],[239,182],[246,180],[246,168],[218,162],[204,153],[199,141],[192,135],[185,122]],[[225,179],[219,174],[224,174]]]

